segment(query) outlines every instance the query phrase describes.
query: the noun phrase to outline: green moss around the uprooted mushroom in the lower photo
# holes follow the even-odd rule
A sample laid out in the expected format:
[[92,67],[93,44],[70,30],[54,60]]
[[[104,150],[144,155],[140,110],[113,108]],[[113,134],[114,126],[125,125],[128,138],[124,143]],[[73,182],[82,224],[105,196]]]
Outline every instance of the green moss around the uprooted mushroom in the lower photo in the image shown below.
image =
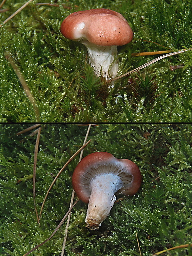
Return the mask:
[[[68,210],[71,176],[78,158],[68,165],[46,200],[40,226],[32,193],[36,136],[15,133],[30,124],[0,125],[0,253],[22,256],[47,239]],[[87,127],[42,126],[37,158],[36,204],[38,213],[53,177],[83,144]],[[83,156],[107,151],[128,158],[141,170],[139,192],[116,203],[97,231],[85,228],[86,208],[78,202],[72,210],[65,255],[142,255],[192,243],[192,125],[100,124],[92,126],[91,143]],[[60,255],[65,224],[31,255]],[[169,255],[192,255],[190,248]]]

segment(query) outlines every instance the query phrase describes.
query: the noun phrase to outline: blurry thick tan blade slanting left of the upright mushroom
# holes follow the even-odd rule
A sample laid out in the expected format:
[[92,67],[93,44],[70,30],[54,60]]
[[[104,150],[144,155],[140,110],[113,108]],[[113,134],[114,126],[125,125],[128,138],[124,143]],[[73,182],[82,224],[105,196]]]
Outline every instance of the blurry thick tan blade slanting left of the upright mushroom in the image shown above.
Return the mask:
[[36,121],[39,122],[39,109],[37,107],[37,103],[36,100],[33,98],[30,89],[25,81],[24,76],[21,74],[21,71],[19,70],[19,68],[17,67],[15,61],[13,60],[13,58],[11,57],[9,52],[5,52],[5,57],[6,59],[9,61],[9,63],[11,64],[11,66],[13,67],[13,69],[15,70],[15,73],[19,79],[19,82],[21,83],[29,101],[31,102],[31,104],[33,105],[33,109],[35,111],[35,116],[36,116]]

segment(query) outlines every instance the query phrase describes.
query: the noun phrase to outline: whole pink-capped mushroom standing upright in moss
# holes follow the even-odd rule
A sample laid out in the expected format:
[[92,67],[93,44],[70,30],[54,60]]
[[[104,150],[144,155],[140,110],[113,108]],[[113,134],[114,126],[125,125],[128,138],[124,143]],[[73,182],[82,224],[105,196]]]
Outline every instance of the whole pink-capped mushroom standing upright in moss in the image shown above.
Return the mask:
[[119,61],[112,64],[117,57],[117,45],[125,45],[133,38],[127,20],[120,13],[108,9],[70,14],[61,24],[61,33],[67,39],[86,46],[89,63],[97,76],[101,70],[103,74],[113,78],[118,72]]

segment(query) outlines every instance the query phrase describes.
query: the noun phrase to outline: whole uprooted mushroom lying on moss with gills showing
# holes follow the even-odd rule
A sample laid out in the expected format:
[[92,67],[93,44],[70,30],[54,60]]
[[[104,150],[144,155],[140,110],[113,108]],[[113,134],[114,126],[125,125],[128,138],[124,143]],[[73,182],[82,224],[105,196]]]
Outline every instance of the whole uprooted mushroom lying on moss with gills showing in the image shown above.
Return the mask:
[[96,230],[109,215],[115,194],[134,195],[141,185],[141,172],[128,159],[118,159],[107,152],[84,157],[74,169],[73,189],[88,203],[86,227]]

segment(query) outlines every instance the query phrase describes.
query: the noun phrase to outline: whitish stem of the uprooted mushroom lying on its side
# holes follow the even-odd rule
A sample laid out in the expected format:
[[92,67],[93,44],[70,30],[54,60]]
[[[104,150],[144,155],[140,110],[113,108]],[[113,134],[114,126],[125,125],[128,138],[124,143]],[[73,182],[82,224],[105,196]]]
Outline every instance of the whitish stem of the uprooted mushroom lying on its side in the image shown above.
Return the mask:
[[109,173],[96,176],[90,183],[91,195],[85,222],[90,229],[98,229],[116,200],[115,193],[123,182],[118,175]]

